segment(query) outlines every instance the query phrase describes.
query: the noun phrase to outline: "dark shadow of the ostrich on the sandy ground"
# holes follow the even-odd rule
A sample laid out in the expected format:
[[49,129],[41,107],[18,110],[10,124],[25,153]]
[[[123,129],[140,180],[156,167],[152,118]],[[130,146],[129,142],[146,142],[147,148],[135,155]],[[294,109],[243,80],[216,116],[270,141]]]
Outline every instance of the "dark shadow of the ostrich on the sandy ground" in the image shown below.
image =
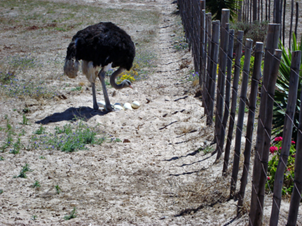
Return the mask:
[[47,116],[45,119],[35,122],[36,124],[46,125],[49,123],[57,123],[62,121],[77,121],[79,119],[88,121],[94,116],[104,116],[108,112],[96,110],[91,107],[82,106],[82,107],[69,107],[63,112],[56,112],[51,116]]

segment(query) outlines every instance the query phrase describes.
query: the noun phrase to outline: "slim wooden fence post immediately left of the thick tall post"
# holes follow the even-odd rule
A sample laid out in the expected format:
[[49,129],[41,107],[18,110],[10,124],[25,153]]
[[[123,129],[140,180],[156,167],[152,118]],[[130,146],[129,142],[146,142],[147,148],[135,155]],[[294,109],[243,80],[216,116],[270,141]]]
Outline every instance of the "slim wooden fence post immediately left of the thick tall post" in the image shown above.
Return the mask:
[[243,206],[245,189],[248,183],[258,85],[261,77],[262,56],[263,56],[263,43],[256,42],[255,61],[254,61],[254,69],[253,69],[252,82],[251,82],[251,93],[249,97],[249,113],[248,113],[248,122],[247,122],[246,143],[245,143],[245,150],[244,150],[244,166],[243,166],[243,173],[241,177],[240,191],[238,197],[238,213],[240,213],[240,210]]

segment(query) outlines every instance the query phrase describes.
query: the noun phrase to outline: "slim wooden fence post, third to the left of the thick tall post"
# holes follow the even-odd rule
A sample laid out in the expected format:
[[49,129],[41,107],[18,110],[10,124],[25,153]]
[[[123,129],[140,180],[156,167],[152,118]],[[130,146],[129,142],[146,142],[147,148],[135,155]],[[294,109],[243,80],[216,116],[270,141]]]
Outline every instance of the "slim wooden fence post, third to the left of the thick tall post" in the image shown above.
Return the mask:
[[232,90],[232,104],[230,111],[230,123],[229,123],[229,131],[228,131],[228,139],[226,140],[225,153],[224,153],[224,161],[223,161],[223,170],[222,174],[224,174],[228,170],[229,158],[230,158],[230,149],[232,144],[233,137],[233,129],[235,124],[235,114],[236,114],[236,106],[237,106],[237,92],[238,92],[238,83],[239,83],[239,75],[240,75],[240,61],[242,56],[242,40],[243,40],[243,31],[238,31],[237,35],[237,49],[235,56],[235,72],[233,78],[233,90]]

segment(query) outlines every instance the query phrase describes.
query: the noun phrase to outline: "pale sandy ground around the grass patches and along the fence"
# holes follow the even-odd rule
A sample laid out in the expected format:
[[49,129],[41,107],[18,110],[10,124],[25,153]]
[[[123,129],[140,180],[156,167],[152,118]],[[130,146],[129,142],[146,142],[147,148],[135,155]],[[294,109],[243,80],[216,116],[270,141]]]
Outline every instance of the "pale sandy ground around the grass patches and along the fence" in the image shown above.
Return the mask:
[[[113,112],[94,110],[87,83],[87,89],[80,94],[64,93],[66,99],[3,99],[1,126],[5,127],[8,115],[15,127],[26,131],[24,139],[29,139],[39,129],[37,123],[53,131],[56,126],[68,124],[75,114],[85,116],[90,126],[99,124],[104,134],[124,142],[106,142],[73,153],[42,149],[23,149],[17,155],[1,153],[5,160],[0,161],[0,188],[4,190],[0,195],[0,225],[248,224],[247,214],[236,218],[237,202],[228,200],[230,175],[222,177],[222,161],[214,163],[215,156],[197,151],[209,148],[214,133],[205,125],[200,99],[194,97],[197,87],[183,79],[192,63],[180,69],[181,62],[191,61],[191,55],[172,48],[176,18],[172,12],[176,5],[159,0],[108,1],[106,6],[156,7],[160,12],[154,73],[135,82],[133,90],[108,89],[112,103],[136,100],[141,106]],[[68,39],[62,42],[55,51],[64,55]],[[54,78],[47,82],[60,84],[62,81],[55,75],[62,71],[48,68],[41,76],[49,78],[52,73]],[[80,74],[72,82],[85,79]],[[97,98],[103,100],[102,90],[97,92]],[[30,109],[26,115],[29,125],[19,125],[22,115],[14,109],[25,106]],[[4,133],[0,132],[0,136],[5,139]],[[25,163],[34,171],[28,172],[27,178],[13,178]],[[39,189],[32,187],[35,181],[40,182]],[[55,185],[61,188],[59,194]],[[250,185],[247,189],[249,199]],[[280,225],[286,222],[288,201],[282,204]],[[269,220],[270,205],[268,197],[264,224]],[[64,220],[73,207],[77,208],[77,217]],[[298,225],[302,225],[301,214],[299,220]]]

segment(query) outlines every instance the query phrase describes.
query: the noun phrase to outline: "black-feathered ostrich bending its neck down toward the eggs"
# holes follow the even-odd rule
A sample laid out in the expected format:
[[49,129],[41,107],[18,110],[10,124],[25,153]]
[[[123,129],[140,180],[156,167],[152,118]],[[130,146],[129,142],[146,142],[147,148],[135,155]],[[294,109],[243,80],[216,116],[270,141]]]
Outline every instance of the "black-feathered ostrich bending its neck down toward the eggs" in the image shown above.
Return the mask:
[[[129,80],[116,84],[115,78],[125,69],[130,70],[135,57],[135,47],[130,36],[111,22],[101,22],[78,31],[67,47],[64,73],[75,78],[82,60],[82,71],[91,82],[93,108],[99,109],[96,98],[95,81],[99,77],[102,83],[106,109],[112,111],[108,97],[105,74],[111,67],[119,67],[110,77],[110,84],[115,89],[131,86]],[[98,72],[101,67],[100,72]]]

